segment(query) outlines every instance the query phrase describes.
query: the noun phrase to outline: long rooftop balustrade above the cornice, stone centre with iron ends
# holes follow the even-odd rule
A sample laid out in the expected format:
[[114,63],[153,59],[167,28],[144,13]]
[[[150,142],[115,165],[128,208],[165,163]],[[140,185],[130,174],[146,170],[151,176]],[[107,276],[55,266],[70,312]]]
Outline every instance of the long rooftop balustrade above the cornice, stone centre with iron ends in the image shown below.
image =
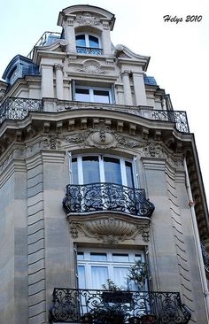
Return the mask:
[[[155,110],[150,106],[126,106],[122,104],[99,104],[77,101],[57,100],[55,98],[28,99],[8,97],[0,106],[0,123],[4,120],[23,120],[28,112],[44,112],[44,103],[46,101],[53,102],[57,105],[57,112],[74,111],[78,109],[95,109],[114,112],[124,112],[138,117],[143,117],[146,120],[159,120],[174,123],[177,130],[182,133],[189,133],[189,124],[186,112],[181,111],[166,111]],[[47,109],[49,112],[49,109]],[[54,111],[53,111],[54,112]]]

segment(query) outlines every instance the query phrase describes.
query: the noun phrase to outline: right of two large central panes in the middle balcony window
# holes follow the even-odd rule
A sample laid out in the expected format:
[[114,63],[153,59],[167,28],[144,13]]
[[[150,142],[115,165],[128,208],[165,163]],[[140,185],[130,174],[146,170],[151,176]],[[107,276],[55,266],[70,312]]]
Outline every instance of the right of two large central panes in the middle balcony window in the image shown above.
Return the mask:
[[104,157],[105,182],[121,184],[120,159]]

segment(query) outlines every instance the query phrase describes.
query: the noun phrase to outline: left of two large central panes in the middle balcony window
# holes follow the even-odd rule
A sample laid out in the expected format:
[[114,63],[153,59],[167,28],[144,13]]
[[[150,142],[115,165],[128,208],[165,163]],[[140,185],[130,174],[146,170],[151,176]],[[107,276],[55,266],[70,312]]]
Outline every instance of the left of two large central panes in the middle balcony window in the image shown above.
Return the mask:
[[100,182],[98,157],[82,158],[83,184]]

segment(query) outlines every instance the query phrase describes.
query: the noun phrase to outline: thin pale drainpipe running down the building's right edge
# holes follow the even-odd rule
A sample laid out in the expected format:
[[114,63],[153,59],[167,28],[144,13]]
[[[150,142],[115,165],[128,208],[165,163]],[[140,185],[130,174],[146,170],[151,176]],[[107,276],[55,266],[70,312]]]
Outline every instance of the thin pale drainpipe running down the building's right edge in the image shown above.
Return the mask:
[[208,287],[207,287],[207,281],[206,281],[206,275],[205,275],[205,266],[204,266],[204,261],[203,261],[201,245],[200,245],[199,232],[198,232],[198,228],[197,228],[195,204],[194,204],[194,201],[193,201],[191,188],[190,188],[190,178],[189,178],[189,174],[188,174],[186,158],[183,159],[183,166],[184,166],[185,175],[186,175],[186,186],[187,186],[187,192],[188,192],[188,197],[189,197],[191,221],[192,221],[192,227],[193,227],[193,232],[194,232],[195,247],[196,247],[196,251],[197,251],[197,259],[198,259],[198,265],[199,265],[199,271],[200,271],[200,279],[201,279],[202,289],[203,289],[204,297],[205,297],[204,298],[204,300],[205,300],[205,311],[206,311],[207,322],[209,323],[209,317],[208,317],[208,314],[209,314],[209,291],[208,291]]

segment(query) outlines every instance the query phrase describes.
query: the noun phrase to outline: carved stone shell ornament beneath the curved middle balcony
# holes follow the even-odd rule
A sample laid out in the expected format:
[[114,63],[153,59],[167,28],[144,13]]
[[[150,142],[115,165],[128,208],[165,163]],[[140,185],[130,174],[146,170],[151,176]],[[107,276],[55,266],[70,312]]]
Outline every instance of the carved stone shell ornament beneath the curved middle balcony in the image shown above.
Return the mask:
[[145,222],[141,219],[135,219],[129,216],[122,218],[121,216],[105,217],[97,215],[91,216],[69,217],[70,234],[74,239],[79,237],[79,233],[85,236],[96,238],[103,243],[120,243],[125,240],[134,240],[135,235],[141,234],[144,242],[150,240],[150,220]]

